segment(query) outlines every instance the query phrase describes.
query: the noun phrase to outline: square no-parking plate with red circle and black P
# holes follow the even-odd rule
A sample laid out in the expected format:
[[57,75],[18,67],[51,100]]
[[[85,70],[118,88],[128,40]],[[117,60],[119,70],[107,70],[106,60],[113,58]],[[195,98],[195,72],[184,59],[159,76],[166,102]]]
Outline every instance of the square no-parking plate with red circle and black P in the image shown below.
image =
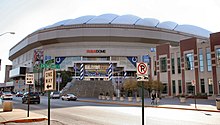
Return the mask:
[[137,63],[137,76],[147,76],[148,66],[147,63]]

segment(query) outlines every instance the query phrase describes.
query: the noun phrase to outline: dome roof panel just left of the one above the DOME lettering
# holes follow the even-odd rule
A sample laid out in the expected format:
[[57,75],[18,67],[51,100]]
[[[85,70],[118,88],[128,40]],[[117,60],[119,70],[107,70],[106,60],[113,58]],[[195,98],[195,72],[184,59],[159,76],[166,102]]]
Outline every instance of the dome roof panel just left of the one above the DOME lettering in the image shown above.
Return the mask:
[[81,17],[78,17],[76,19],[69,20],[64,25],[85,24],[89,20],[93,19],[94,17],[95,16],[93,16],[93,15],[81,16]]

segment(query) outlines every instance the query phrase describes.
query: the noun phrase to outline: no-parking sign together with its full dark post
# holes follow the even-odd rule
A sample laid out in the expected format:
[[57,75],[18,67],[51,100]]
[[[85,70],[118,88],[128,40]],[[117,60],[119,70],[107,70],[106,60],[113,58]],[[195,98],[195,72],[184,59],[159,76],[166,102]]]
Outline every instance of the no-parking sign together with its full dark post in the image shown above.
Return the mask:
[[142,125],[144,125],[144,81],[148,81],[148,65],[147,63],[137,63],[137,81],[142,82]]

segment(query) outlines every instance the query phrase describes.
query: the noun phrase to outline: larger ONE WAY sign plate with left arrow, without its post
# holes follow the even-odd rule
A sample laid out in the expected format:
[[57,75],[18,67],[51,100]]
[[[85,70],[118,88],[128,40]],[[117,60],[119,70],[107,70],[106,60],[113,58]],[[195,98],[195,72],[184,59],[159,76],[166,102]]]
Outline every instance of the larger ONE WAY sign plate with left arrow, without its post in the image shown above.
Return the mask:
[[48,70],[45,71],[44,73],[45,78],[44,78],[44,90],[49,91],[49,90],[56,90],[56,75],[55,75],[55,70]]

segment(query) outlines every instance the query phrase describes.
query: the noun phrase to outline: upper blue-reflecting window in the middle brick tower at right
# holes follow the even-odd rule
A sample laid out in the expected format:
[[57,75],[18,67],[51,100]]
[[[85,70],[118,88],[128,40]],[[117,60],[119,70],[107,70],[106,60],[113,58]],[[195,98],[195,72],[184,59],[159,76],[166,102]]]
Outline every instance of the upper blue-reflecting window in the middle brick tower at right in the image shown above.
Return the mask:
[[194,56],[193,53],[185,54],[185,69],[193,70],[194,69]]

